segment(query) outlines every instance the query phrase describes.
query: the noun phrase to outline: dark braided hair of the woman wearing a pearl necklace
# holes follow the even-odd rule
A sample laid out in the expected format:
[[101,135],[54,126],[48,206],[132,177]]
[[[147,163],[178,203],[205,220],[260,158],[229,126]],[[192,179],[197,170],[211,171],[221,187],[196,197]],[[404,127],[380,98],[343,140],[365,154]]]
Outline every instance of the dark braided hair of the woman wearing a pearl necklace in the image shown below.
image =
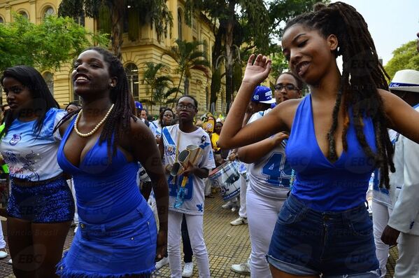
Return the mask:
[[[105,62],[109,66],[109,75],[115,76],[118,80],[115,87],[111,88],[110,95],[111,102],[115,105],[108,118],[106,118],[104,128],[99,137],[99,143],[106,141],[108,144],[108,162],[111,162],[113,154],[116,153],[122,133],[131,130],[131,118],[136,121],[132,110],[132,95],[129,92],[127,75],[118,57],[104,48],[92,47],[87,48],[83,52],[87,50],[94,50],[103,55]],[[72,118],[79,111],[68,113],[55,128],[57,129],[59,125]]]

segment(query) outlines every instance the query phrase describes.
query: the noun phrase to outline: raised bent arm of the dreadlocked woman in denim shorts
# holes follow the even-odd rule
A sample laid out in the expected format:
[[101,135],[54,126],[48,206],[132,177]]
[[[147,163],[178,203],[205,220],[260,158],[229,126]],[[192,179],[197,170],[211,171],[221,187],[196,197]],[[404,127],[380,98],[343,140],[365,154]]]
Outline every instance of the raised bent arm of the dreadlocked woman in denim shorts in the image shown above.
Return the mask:
[[[253,60],[255,60],[254,63]],[[218,140],[220,148],[247,146],[265,139],[271,134],[280,132],[280,130],[288,129],[279,116],[278,111],[280,110],[278,109],[274,109],[267,116],[241,127],[253,90],[255,90],[256,85],[268,77],[269,71],[271,71],[271,60],[262,57],[262,55],[257,55],[256,59],[255,55],[250,55],[239,93],[234,99],[232,109],[230,109],[229,116],[227,116],[221,130]],[[279,108],[279,106],[276,108]]]

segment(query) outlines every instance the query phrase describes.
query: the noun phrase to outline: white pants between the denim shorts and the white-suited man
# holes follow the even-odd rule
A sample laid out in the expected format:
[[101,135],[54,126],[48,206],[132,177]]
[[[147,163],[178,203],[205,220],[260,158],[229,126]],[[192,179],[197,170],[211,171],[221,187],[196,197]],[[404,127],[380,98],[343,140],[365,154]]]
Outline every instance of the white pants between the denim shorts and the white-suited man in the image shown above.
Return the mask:
[[376,256],[380,263],[381,277],[385,277],[387,273],[388,249],[390,246],[381,240],[383,230],[388,223],[392,209],[384,204],[372,202],[372,223],[374,225],[374,242],[376,243]]

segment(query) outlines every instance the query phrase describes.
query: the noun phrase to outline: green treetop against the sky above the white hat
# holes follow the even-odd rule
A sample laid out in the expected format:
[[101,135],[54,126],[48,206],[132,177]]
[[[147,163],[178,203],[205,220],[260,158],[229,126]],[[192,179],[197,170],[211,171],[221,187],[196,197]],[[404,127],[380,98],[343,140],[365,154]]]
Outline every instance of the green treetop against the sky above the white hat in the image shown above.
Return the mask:
[[385,71],[390,76],[390,80],[397,71],[402,69],[415,69],[419,71],[419,53],[416,50],[418,41],[409,41],[393,51],[393,57],[385,65]]

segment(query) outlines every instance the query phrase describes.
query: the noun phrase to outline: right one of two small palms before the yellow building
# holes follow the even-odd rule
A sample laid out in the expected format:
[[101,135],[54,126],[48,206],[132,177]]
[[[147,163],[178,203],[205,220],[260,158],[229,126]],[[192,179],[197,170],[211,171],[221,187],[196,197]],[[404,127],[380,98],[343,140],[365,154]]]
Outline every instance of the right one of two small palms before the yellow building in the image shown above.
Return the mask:
[[198,46],[203,44],[201,41],[182,41],[176,39],[175,43],[176,46],[171,46],[169,50],[165,50],[162,54],[162,57],[168,55],[178,64],[176,73],[180,74],[180,78],[174,99],[178,97],[183,77],[185,77],[185,81],[192,77],[192,69],[203,71],[206,76],[209,76],[209,62],[206,53],[198,50]]

